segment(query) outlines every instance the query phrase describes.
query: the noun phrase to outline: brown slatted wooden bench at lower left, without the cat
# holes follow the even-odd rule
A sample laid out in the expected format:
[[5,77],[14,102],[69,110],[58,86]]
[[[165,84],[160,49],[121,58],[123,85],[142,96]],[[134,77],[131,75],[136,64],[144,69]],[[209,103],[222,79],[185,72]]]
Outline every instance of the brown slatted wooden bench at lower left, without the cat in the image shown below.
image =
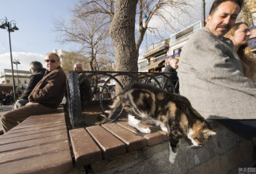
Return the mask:
[[67,173],[72,168],[63,108],[30,116],[0,136],[0,173]]

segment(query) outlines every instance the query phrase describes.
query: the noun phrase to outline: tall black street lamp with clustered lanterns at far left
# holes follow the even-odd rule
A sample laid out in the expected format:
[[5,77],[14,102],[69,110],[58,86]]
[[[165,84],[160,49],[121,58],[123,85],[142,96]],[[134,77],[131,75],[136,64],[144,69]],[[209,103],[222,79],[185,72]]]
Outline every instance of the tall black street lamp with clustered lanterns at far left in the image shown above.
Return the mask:
[[[16,27],[16,21],[15,20],[12,20],[12,21],[8,22],[8,19],[5,17],[5,19],[0,19],[0,22],[2,23],[0,28],[1,29],[6,29],[9,32],[9,45],[10,45],[11,65],[12,65],[11,32],[14,32],[14,30],[19,30],[19,29],[18,29],[18,27]],[[12,66],[12,87],[13,87],[14,101],[16,101],[16,87],[15,87],[15,81],[14,81],[13,66]]]

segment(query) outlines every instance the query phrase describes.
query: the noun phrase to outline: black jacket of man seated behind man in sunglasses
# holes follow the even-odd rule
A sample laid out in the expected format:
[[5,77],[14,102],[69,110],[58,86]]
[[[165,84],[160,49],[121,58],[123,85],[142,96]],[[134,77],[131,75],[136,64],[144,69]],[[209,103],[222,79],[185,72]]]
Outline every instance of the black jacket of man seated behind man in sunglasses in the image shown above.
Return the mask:
[[46,69],[42,68],[30,76],[29,84],[26,87],[26,90],[24,90],[22,93],[22,99],[28,100],[29,94],[34,89],[34,87],[36,87],[36,84],[43,78],[45,71]]

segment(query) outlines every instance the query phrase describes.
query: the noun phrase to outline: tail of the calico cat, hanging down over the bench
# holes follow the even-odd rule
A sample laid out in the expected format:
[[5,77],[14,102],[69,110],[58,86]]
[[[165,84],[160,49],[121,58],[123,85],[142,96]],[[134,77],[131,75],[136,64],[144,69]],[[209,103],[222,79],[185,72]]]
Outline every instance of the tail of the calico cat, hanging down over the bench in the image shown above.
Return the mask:
[[102,117],[101,124],[112,121],[112,116],[120,105],[121,105],[120,97],[116,96],[115,98],[113,98],[112,104],[109,104],[109,108],[101,114],[101,117]]

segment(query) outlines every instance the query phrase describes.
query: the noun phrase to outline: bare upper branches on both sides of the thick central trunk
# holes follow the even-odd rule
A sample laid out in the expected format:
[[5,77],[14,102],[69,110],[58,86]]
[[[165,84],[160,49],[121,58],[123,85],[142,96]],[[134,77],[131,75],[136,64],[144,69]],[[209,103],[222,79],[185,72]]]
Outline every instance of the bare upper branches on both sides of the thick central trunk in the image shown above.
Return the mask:
[[[173,22],[178,22],[179,15],[189,15],[189,8],[193,8],[191,2],[193,2],[193,0],[139,0],[137,4],[138,32],[136,48],[140,48],[147,29],[150,30],[150,32],[154,32],[155,36],[161,36],[161,32],[158,32],[157,27],[150,26],[150,20],[152,18],[161,20],[161,22],[164,23],[164,27],[171,30],[174,28]],[[106,26],[109,27],[115,12],[115,7],[116,5],[113,0],[81,0],[74,10],[79,12],[82,16],[107,15]]]

